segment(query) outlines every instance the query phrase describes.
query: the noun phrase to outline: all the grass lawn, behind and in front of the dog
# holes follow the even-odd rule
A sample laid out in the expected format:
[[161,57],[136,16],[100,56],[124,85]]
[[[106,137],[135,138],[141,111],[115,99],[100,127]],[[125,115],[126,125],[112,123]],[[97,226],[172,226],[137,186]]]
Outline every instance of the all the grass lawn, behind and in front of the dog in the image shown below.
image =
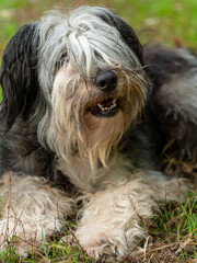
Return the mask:
[[[111,8],[135,28],[142,44],[162,43],[196,50],[196,0],[0,0],[0,56],[14,32],[24,23],[38,19],[46,10],[65,10],[80,4]],[[177,170],[171,168],[169,164],[165,171],[181,173],[187,168],[197,176],[196,163],[182,163]],[[171,204],[161,207],[161,210],[147,229],[146,253],[135,260],[128,254],[124,262],[197,262],[197,195],[188,193],[184,204]],[[33,248],[27,259],[15,255],[10,245],[0,253],[0,262],[94,262],[77,241],[69,243],[61,240],[68,233],[73,236],[76,226],[77,222],[71,219],[62,222],[62,232],[51,237],[39,250]]]

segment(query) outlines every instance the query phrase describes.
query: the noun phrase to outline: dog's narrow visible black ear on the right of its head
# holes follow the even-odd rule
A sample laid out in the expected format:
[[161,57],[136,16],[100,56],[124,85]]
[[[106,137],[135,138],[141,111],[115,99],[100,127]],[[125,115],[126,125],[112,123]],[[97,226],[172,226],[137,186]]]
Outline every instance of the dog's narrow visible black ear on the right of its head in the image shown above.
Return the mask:
[[132,52],[138,57],[139,61],[143,64],[142,59],[142,46],[134,32],[134,30],[118,15],[112,13],[111,11],[106,11],[104,14],[99,14],[100,18],[105,21],[107,24],[116,27],[116,30],[120,33],[125,43],[132,49]]

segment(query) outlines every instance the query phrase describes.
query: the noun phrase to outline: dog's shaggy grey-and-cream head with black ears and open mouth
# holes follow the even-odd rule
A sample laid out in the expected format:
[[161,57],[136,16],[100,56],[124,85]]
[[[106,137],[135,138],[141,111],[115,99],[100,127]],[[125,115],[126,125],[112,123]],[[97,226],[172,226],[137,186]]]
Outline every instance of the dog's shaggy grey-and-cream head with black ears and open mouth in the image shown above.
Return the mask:
[[136,122],[147,90],[132,28],[91,7],[23,26],[4,52],[0,80],[8,130],[22,118],[61,157],[85,147],[102,162]]

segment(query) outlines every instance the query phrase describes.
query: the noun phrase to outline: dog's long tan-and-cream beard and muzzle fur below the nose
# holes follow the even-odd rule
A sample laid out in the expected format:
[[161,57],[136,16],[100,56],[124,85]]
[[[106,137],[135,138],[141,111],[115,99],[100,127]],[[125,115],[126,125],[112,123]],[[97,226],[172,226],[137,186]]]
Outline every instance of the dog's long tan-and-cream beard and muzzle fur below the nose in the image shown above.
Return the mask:
[[[142,85],[134,75],[115,71],[118,83],[111,93],[84,80],[71,65],[58,71],[49,122],[46,125],[47,117],[44,118],[39,127],[45,129],[46,142],[59,158],[69,161],[78,153],[90,161],[92,170],[99,163],[106,167],[123,134],[136,123],[144,104],[146,82]],[[111,114],[112,105],[115,114]]]

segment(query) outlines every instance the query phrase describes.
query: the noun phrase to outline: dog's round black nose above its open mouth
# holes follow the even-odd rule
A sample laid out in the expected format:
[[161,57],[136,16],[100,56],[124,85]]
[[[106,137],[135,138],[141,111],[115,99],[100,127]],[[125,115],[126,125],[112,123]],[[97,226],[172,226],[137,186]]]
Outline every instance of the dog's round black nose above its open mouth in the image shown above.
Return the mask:
[[113,71],[103,71],[96,77],[96,87],[102,91],[112,91],[117,85],[117,75]]

